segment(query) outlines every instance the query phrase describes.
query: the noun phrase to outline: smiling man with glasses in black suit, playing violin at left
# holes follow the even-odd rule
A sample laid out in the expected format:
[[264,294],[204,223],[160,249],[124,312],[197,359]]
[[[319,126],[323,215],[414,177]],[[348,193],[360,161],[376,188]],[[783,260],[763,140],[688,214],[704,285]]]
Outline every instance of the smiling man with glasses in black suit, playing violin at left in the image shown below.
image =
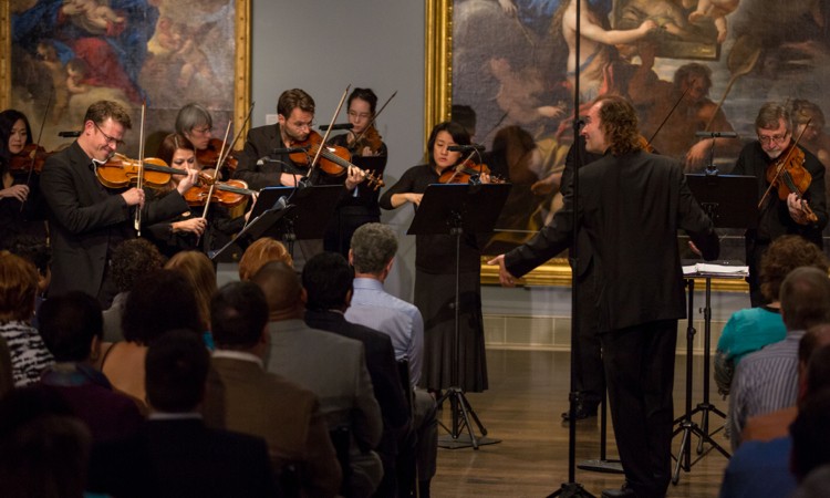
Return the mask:
[[147,204],[139,188],[107,188],[98,181],[95,169],[124,145],[129,127],[129,115],[120,104],[96,102],[86,111],[81,136],[43,165],[40,185],[49,208],[53,255],[51,295],[81,290],[110,308],[116,293],[110,258],[121,241],[135,237],[136,207],[145,226],[188,210],[183,195],[196,181],[195,169],[176,190]]

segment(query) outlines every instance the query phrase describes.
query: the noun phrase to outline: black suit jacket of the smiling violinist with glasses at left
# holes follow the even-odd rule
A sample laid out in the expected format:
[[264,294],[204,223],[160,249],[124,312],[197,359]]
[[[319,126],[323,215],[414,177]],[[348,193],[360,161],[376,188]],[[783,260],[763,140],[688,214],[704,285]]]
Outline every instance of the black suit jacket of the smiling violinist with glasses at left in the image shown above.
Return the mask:
[[[50,293],[82,290],[98,295],[108,251],[135,237],[134,210],[121,197],[126,188],[104,187],[77,142],[46,159],[40,186],[53,247]],[[142,224],[148,227],[188,209],[184,197],[173,191],[145,203]]]

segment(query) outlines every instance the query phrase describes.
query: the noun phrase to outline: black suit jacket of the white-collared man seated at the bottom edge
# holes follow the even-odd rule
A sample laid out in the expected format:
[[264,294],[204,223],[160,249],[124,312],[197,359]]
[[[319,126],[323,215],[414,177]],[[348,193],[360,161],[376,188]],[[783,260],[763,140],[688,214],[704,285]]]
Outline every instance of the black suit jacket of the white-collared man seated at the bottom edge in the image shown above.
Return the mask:
[[151,419],[129,439],[94,447],[87,489],[115,497],[277,494],[264,439],[197,418]]

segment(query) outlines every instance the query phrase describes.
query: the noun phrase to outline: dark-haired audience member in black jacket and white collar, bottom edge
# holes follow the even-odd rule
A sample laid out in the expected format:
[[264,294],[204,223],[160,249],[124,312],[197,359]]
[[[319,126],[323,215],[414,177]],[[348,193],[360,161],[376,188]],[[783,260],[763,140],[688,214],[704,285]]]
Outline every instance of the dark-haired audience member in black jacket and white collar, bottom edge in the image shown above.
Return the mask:
[[[127,310],[129,304],[127,303]],[[210,355],[198,333],[173,330],[147,351],[149,419],[93,449],[89,489],[117,497],[273,497],[262,438],[207,428],[197,412]]]

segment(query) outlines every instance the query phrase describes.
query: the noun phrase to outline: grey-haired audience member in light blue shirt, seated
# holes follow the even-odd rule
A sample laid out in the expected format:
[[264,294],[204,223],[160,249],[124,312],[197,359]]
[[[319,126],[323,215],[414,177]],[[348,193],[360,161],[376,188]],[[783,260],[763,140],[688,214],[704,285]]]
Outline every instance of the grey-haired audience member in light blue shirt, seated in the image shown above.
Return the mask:
[[[395,359],[408,361],[409,388],[413,390],[415,401],[413,428],[417,434],[418,496],[425,498],[429,496],[429,481],[435,476],[438,422],[435,398],[425,390],[415,387],[421,378],[424,355],[424,320],[421,311],[383,289],[392,270],[395,252],[397,236],[392,228],[381,224],[366,224],[355,230],[349,251],[349,262],[355,272],[352,283],[354,293],[345,318],[350,322],[387,334],[392,339]],[[402,453],[405,452],[402,449]],[[407,466],[407,463],[398,458],[397,464],[400,484],[407,478],[401,474],[401,467]]]

